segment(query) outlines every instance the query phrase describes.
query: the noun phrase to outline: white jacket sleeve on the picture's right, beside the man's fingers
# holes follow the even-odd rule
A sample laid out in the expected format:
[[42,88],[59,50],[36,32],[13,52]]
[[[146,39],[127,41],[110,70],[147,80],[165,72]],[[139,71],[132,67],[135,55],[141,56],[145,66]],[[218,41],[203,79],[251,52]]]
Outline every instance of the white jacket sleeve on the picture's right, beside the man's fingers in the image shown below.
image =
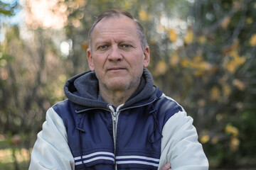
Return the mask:
[[207,170],[208,159],[198,142],[193,119],[178,112],[164,125],[159,169],[171,163],[171,170]]

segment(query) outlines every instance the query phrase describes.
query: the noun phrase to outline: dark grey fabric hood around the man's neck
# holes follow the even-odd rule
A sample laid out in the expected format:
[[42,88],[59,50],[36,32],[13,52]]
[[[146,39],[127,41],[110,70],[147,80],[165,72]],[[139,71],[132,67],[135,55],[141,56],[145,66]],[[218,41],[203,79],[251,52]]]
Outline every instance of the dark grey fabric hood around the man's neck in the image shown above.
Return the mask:
[[[99,95],[99,81],[95,72],[83,72],[70,78],[64,86],[67,98],[79,106],[107,108],[109,103],[102,101]],[[155,94],[155,95],[154,95]],[[153,78],[148,69],[144,69],[139,88],[124,103],[123,107],[129,107],[135,103],[148,101],[150,98],[157,98]]]

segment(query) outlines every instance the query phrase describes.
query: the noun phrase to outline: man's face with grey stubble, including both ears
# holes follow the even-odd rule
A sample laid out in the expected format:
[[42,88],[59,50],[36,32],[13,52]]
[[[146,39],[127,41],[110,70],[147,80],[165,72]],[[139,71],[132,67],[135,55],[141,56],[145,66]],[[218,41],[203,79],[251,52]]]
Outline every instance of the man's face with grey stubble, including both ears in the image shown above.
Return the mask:
[[103,18],[92,32],[89,67],[105,90],[123,91],[139,86],[149,64],[149,47],[142,49],[137,26],[127,16]]

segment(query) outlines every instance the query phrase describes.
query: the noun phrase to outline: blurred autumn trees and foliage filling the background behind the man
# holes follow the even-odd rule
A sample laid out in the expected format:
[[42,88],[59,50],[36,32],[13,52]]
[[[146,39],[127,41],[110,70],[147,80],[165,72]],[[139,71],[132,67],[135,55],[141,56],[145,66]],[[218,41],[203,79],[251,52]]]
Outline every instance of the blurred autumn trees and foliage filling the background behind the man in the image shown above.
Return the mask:
[[0,169],[28,169],[47,109],[89,69],[87,33],[108,8],[144,26],[155,84],[193,117],[210,169],[256,169],[254,0],[1,0]]

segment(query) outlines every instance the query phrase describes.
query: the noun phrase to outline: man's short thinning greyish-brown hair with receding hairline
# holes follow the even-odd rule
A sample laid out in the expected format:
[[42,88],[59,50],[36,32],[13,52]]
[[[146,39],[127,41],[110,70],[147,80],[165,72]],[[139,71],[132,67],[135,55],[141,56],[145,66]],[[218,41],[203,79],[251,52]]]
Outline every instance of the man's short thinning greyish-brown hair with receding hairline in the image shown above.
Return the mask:
[[111,18],[113,16],[127,16],[128,18],[131,18],[132,21],[134,21],[134,23],[137,27],[137,32],[138,32],[138,35],[139,35],[139,39],[141,40],[142,49],[144,50],[146,48],[146,46],[148,45],[148,43],[146,42],[146,35],[144,33],[144,28],[139,23],[139,21],[137,21],[137,19],[135,19],[132,16],[132,14],[127,12],[127,11],[117,10],[117,9],[110,9],[110,10],[107,10],[107,11],[104,11],[104,12],[100,13],[100,15],[97,16],[95,22],[92,24],[92,27],[90,28],[90,32],[88,34],[88,37],[89,37],[89,48],[90,48],[91,52],[92,52],[92,32],[93,32],[95,26],[97,25],[97,23],[102,21],[103,18]]

